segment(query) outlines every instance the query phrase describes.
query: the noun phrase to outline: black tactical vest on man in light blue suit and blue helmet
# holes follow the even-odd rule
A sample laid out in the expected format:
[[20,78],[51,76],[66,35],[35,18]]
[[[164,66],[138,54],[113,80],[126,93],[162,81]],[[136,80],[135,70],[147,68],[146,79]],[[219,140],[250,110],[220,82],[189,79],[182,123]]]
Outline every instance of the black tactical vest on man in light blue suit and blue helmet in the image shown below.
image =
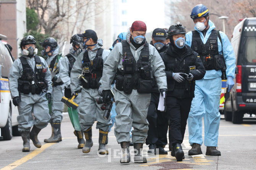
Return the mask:
[[219,55],[218,35],[216,30],[212,30],[211,35],[204,44],[198,31],[192,31],[191,48],[197,52],[203,62],[205,70],[214,70],[214,56]]

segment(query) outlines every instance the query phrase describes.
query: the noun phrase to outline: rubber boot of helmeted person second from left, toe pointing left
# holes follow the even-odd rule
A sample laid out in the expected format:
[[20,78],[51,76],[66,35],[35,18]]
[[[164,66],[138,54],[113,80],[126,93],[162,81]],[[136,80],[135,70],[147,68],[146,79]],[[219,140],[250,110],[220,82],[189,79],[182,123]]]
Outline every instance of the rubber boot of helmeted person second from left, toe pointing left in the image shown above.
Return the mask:
[[52,136],[49,139],[45,139],[44,142],[46,143],[55,143],[62,141],[62,135],[60,132],[60,122],[52,123]]

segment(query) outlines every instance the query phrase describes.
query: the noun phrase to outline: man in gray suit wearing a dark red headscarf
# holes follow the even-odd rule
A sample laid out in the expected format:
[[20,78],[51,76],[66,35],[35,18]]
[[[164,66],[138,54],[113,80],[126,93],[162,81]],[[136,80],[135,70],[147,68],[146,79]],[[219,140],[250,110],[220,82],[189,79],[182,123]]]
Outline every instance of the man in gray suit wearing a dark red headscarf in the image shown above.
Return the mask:
[[153,75],[161,94],[167,91],[164,63],[154,46],[145,39],[146,24],[134,21],[126,40],[117,43],[104,63],[102,94],[104,102],[111,101],[110,84],[117,72],[114,86],[117,116],[115,117],[115,136],[121,144],[120,163],[130,162],[130,130],[135,151],[134,162],[146,163],[141,155],[143,143],[147,138],[147,110]]

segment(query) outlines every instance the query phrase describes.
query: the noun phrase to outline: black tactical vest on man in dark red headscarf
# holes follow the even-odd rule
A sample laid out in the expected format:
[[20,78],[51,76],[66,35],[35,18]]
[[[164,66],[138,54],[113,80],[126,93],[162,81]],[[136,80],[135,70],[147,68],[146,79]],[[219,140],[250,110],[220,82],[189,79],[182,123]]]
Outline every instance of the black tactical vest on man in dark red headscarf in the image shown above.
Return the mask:
[[133,89],[140,93],[151,93],[152,69],[149,60],[149,44],[145,43],[138,61],[135,60],[130,44],[122,41],[122,68],[117,71],[116,88],[130,94]]

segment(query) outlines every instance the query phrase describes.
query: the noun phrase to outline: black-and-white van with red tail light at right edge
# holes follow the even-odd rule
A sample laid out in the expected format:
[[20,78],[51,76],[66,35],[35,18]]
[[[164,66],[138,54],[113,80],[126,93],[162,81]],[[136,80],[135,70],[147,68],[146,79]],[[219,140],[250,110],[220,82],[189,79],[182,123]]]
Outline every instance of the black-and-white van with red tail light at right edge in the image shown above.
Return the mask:
[[226,121],[241,124],[245,113],[256,112],[256,17],[245,18],[235,26],[231,44],[238,74],[225,103],[224,115]]

